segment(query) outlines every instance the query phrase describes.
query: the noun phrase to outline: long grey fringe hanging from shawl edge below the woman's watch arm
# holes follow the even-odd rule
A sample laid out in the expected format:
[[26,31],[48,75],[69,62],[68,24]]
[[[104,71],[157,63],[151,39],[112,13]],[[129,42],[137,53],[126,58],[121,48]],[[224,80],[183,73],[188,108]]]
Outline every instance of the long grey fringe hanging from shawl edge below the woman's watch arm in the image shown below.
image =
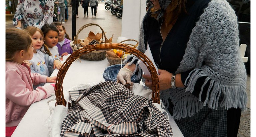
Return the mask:
[[[194,91],[194,87],[198,78],[203,76],[208,76],[208,74],[206,74],[202,69],[197,68],[191,71],[184,84],[185,86],[187,86],[185,90],[192,93]],[[231,107],[239,107],[242,111],[246,110],[247,95],[246,89],[243,86],[239,84],[225,85],[222,83],[218,83],[209,77],[205,79],[204,84],[201,87],[198,99],[199,101],[202,101],[201,95],[203,93],[204,86],[209,81],[210,85],[207,89],[206,99],[203,102],[204,106],[206,106],[207,104],[209,108],[217,109],[220,95],[221,93],[223,93],[224,97],[220,103],[220,107],[224,107],[227,110]]]

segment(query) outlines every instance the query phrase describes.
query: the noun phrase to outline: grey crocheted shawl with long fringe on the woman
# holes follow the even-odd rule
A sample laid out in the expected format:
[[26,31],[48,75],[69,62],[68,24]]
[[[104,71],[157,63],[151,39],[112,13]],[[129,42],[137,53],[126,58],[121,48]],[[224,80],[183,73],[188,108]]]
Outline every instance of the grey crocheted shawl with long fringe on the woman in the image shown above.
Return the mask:
[[[143,23],[137,49],[145,52]],[[128,65],[137,59],[131,55],[126,60],[131,58]],[[220,93],[224,96],[220,107],[246,110],[247,74],[239,54],[237,17],[226,0],[212,0],[193,28],[185,54],[175,73],[189,70],[192,71],[184,83],[187,88],[160,92],[160,98],[167,108],[167,99],[171,99],[174,104],[174,119],[191,117],[203,106],[217,109]],[[197,98],[192,92],[197,79],[204,76],[207,78]],[[203,90],[208,81],[208,90]],[[205,101],[201,101],[202,92],[207,93]]]

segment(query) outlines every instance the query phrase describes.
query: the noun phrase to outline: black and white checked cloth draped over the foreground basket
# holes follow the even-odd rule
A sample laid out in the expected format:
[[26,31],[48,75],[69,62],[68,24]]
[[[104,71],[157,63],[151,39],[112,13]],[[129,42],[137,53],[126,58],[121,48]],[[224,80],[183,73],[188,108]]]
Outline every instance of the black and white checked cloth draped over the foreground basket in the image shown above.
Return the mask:
[[152,100],[134,95],[122,84],[103,82],[89,89],[70,91],[70,114],[61,136],[172,137],[169,120]]

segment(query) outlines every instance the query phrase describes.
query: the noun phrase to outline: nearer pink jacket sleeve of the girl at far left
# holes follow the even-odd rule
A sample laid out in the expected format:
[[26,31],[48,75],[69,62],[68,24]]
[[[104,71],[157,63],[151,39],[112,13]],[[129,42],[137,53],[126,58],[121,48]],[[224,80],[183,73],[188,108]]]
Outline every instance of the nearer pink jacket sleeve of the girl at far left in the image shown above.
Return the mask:
[[[50,93],[54,93],[52,85],[38,87],[33,90],[32,83],[25,78],[22,78],[21,72],[10,69],[6,71],[6,98],[19,105],[30,105],[34,102],[48,98]],[[24,76],[23,76],[24,77]],[[31,89],[32,88],[32,89]]]

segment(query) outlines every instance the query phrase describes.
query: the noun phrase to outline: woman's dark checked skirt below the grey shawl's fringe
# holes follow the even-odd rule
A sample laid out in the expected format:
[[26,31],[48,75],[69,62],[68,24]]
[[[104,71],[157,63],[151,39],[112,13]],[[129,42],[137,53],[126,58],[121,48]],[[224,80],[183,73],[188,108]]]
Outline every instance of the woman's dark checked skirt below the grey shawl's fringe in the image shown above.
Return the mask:
[[[219,104],[223,100],[220,96]],[[192,117],[175,120],[184,137],[226,137],[227,110],[218,107],[217,110],[204,106]]]

